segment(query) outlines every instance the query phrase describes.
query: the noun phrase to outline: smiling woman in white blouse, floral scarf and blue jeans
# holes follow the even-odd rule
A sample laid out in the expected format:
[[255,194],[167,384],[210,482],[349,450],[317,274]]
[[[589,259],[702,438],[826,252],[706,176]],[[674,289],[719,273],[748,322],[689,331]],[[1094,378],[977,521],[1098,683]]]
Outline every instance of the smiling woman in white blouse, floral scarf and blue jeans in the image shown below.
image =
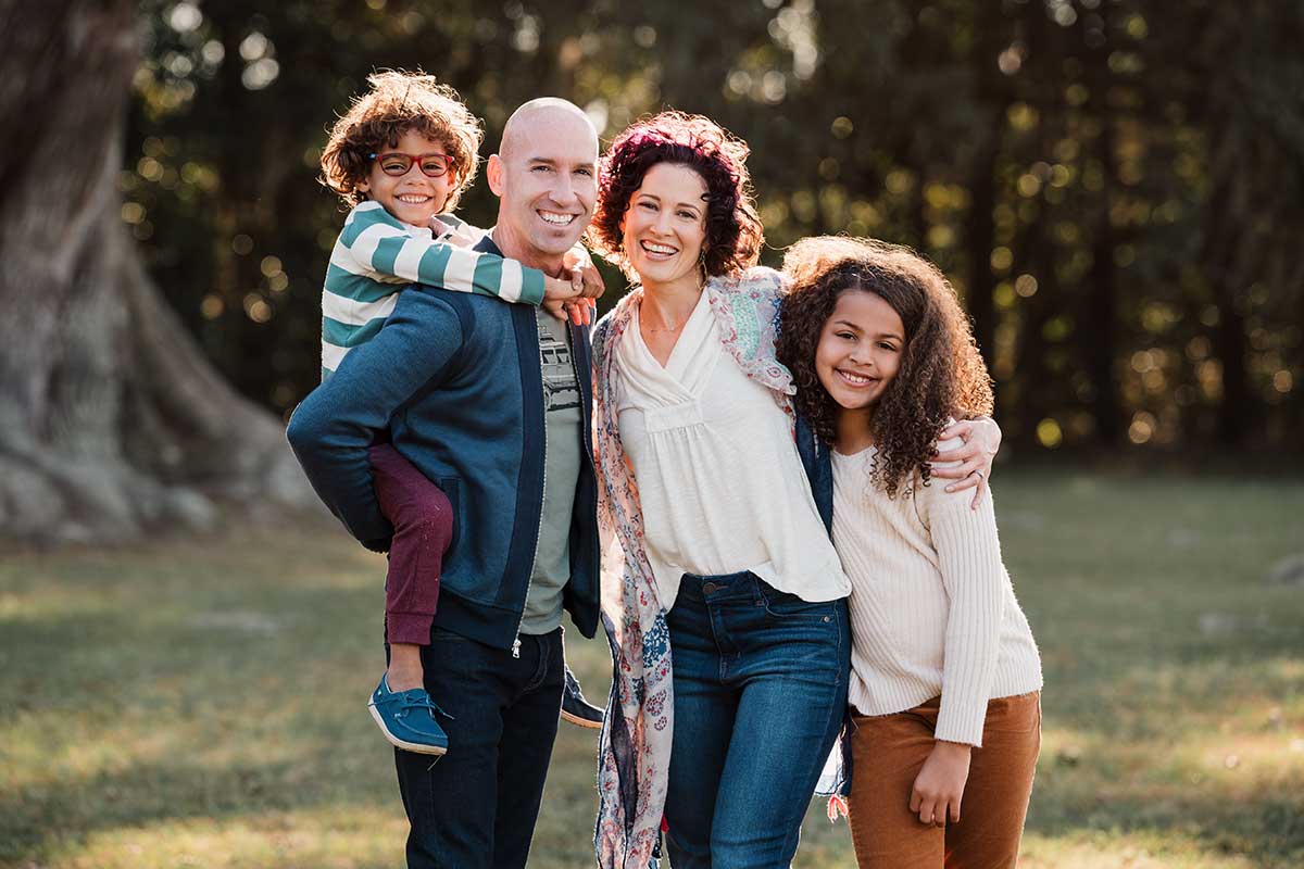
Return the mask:
[[773,362],[782,284],[755,267],[746,158],[672,112],[602,165],[593,235],[639,281],[593,337],[599,515],[625,555],[604,866],[648,865],[662,814],[677,869],[786,866],[846,704],[848,584]]

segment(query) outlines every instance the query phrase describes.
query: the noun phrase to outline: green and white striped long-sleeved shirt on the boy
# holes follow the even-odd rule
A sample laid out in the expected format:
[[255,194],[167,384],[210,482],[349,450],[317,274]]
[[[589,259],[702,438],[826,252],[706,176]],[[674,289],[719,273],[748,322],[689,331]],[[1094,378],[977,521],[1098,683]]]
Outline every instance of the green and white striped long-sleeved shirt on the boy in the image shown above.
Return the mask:
[[[363,202],[348,212],[322,291],[323,380],[349,349],[381,331],[407,284],[496,296],[507,302],[542,302],[544,272],[515,259],[449,244],[454,235],[484,233],[452,215],[441,214],[439,221],[452,231],[436,238],[428,229],[400,221],[379,202]],[[429,235],[421,237],[422,232]]]

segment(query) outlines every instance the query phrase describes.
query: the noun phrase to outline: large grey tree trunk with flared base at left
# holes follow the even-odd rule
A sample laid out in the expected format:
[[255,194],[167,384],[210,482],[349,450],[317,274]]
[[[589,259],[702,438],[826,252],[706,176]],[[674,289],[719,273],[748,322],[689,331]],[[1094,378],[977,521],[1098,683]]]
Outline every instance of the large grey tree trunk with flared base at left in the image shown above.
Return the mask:
[[132,3],[0,0],[0,535],[310,503],[279,421],[209,366],[119,216]]

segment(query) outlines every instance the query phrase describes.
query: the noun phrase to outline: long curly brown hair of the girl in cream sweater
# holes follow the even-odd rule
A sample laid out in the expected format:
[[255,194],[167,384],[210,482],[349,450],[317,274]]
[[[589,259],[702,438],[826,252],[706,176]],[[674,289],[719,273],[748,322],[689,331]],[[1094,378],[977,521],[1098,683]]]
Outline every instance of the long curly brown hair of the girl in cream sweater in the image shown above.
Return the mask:
[[780,313],[778,361],[793,373],[797,410],[825,443],[836,436],[840,405],[819,382],[815,349],[838,296],[870,292],[901,317],[901,363],[874,412],[879,452],[870,485],[896,498],[914,470],[927,485],[947,422],[992,409],[991,377],[945,276],[909,248],[835,236],[798,241],[784,271],[793,285]]

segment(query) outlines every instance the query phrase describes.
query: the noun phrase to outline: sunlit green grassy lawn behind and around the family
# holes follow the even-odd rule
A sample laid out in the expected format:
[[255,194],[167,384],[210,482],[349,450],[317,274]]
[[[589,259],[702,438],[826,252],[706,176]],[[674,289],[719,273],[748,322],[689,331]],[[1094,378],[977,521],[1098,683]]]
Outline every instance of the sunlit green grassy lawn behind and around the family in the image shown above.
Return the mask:
[[[998,513],[1046,668],[1022,865],[1304,865],[1304,483],[1004,472]],[[400,865],[382,567],[333,528],[0,559],[0,865]],[[563,726],[531,866],[592,865],[595,750]],[[846,822],[794,865],[853,866]]]

